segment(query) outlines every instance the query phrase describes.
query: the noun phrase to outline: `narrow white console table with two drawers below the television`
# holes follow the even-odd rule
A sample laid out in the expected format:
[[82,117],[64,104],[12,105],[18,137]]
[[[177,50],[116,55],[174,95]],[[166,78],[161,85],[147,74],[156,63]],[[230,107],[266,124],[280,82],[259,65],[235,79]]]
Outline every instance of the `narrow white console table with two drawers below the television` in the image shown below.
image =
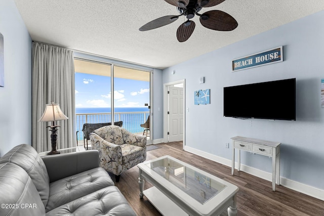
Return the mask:
[[280,185],[280,144],[246,137],[232,137],[232,175],[234,175],[235,149],[238,149],[237,170],[240,168],[240,150],[272,157],[272,190],[275,191],[275,183]]

